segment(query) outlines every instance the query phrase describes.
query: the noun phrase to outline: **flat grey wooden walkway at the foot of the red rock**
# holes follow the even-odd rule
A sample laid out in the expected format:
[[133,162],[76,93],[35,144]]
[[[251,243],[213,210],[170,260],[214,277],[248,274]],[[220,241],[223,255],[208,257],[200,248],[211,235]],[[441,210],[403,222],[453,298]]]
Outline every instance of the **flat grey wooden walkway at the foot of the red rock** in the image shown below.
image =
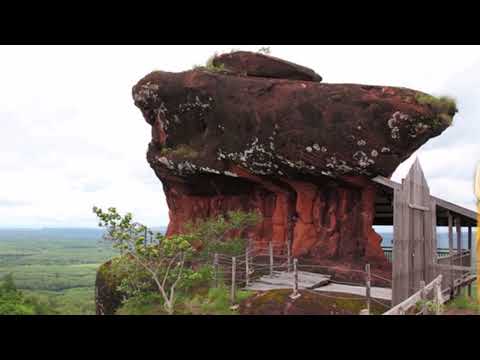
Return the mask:
[[[272,275],[262,276],[245,289],[252,291],[292,289],[294,282],[293,276],[293,272],[274,271]],[[365,286],[335,284],[330,282],[330,278],[329,275],[299,271],[298,288],[311,289],[318,292],[344,293],[359,296],[366,295]],[[390,288],[372,287],[370,294],[376,299],[392,300],[392,289]]]

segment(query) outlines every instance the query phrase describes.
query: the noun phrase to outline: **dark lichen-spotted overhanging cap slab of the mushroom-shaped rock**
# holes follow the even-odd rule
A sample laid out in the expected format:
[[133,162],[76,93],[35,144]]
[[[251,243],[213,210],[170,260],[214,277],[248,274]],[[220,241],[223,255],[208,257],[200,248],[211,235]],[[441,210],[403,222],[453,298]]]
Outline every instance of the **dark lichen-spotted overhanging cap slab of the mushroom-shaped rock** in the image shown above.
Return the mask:
[[152,125],[149,160],[179,176],[388,177],[455,113],[406,88],[205,70],[153,72],[133,97]]

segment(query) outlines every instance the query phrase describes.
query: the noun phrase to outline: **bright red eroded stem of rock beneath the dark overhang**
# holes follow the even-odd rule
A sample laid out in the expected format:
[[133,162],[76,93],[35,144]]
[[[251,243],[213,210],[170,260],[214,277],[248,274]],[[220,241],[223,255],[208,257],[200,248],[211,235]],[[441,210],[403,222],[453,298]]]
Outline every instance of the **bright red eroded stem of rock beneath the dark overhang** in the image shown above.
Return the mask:
[[[295,257],[342,262],[384,263],[381,237],[372,228],[375,189],[349,184],[283,180],[273,183],[241,168],[234,171],[249,184],[242,193],[194,194],[195,185],[165,186],[170,209],[167,235],[181,233],[196,219],[231,210],[258,211],[262,222],[250,231],[254,248],[272,241],[277,254],[285,254],[291,241]],[[368,183],[367,183],[368,184]]]

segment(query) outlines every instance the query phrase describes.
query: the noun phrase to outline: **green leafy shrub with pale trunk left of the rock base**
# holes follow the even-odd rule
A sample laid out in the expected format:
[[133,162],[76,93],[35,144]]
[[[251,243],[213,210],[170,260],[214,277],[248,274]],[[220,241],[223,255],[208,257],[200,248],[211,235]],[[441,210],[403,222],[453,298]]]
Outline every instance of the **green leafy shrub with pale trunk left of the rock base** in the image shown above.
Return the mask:
[[[144,311],[141,309],[145,307],[145,294],[155,291],[161,301],[156,297],[154,306],[163,306],[168,314],[175,313],[181,299],[210,285],[214,269],[208,256],[213,251],[243,253],[246,242],[240,235],[259,221],[257,213],[231,211],[226,217],[188,224],[184,234],[169,237],[156,234],[147,244],[144,233],[149,230],[133,223],[130,213],[121,216],[115,208],[104,212],[97,207],[93,211],[100,220],[99,225],[106,228],[105,238],[123,254],[112,259],[109,269],[102,268],[102,271],[115,274],[117,280],[110,282],[119,282],[117,290],[132,299],[127,300],[124,307],[128,313],[136,308]],[[236,236],[232,236],[232,232],[236,232]],[[108,281],[111,274],[103,277]],[[147,300],[151,304],[152,299]]]

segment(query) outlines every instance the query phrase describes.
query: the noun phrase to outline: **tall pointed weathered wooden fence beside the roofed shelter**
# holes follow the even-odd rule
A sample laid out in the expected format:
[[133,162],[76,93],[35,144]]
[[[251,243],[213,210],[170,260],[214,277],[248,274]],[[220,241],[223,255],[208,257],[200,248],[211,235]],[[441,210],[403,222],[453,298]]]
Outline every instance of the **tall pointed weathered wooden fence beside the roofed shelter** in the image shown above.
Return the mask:
[[468,249],[463,249],[461,216],[449,209],[448,251],[439,251],[436,241],[436,201],[430,196],[417,159],[407,177],[402,180],[401,186],[395,188],[393,250],[391,254],[388,254],[388,249],[384,250],[392,262],[394,308],[404,303],[405,299],[418,298],[424,284],[437,284],[439,275],[443,279],[440,283],[445,299],[456,296],[462,286],[468,286],[468,293],[471,295],[471,283],[476,278],[471,260],[471,227],[468,228]]

